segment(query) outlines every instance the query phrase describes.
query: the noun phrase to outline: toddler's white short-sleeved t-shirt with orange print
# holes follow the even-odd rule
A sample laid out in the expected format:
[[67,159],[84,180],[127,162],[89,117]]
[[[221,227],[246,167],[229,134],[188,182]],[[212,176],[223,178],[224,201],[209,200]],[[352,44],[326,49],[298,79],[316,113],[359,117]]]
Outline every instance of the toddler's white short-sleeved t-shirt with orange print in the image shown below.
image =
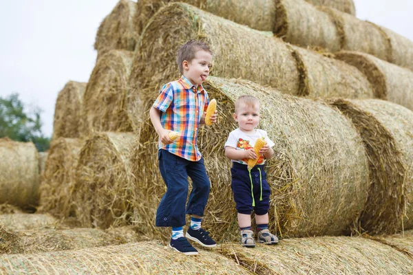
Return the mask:
[[[225,146],[236,148],[239,151],[246,151],[249,148],[254,148],[255,142],[260,138],[265,137],[265,141],[268,146],[273,147],[275,144],[268,138],[266,131],[261,129],[255,129],[255,133],[248,135],[241,131],[239,128],[229,133],[228,140],[225,142]],[[262,155],[257,156],[257,164],[264,164],[265,158]],[[239,162],[240,164],[248,164],[248,159],[232,159],[233,162]]]

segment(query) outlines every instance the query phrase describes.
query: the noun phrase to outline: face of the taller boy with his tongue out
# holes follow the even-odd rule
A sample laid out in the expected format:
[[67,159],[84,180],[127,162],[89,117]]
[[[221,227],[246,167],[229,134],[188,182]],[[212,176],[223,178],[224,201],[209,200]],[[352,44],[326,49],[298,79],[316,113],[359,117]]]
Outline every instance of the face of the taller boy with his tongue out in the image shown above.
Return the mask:
[[191,62],[182,62],[184,76],[196,87],[202,84],[209,76],[209,69],[212,64],[212,54],[204,50],[195,52],[195,58]]

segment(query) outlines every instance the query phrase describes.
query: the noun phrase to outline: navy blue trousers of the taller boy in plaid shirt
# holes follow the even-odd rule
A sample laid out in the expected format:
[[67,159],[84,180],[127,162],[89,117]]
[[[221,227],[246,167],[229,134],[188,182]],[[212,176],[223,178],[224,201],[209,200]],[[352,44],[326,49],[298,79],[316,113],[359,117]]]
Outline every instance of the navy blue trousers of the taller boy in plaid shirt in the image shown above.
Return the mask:
[[[158,151],[159,169],[167,185],[167,192],[162,197],[156,212],[156,226],[180,227],[185,225],[185,213],[204,216],[209,196],[209,177],[202,157],[198,162],[191,162],[166,150]],[[193,188],[187,209],[188,176]]]

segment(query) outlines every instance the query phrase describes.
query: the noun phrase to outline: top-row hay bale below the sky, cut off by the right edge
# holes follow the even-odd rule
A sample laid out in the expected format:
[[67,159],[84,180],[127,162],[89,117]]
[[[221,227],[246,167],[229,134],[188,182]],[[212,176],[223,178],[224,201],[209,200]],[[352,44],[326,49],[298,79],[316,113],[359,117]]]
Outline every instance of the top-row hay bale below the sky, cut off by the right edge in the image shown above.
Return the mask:
[[392,58],[390,62],[413,70],[413,42],[388,28],[379,25],[377,25],[377,28],[380,28],[380,30],[388,36],[388,39],[390,39],[390,45],[392,47]]

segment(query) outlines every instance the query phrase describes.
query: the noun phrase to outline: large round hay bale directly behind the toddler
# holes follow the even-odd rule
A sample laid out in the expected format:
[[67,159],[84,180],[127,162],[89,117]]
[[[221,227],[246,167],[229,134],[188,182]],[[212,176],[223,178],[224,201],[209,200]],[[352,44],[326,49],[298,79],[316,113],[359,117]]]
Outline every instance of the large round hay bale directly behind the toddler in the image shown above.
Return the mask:
[[[209,77],[204,87],[218,101],[220,123],[200,129],[198,146],[211,180],[203,226],[215,239],[239,237],[231,193],[230,161],[224,143],[237,127],[232,113],[238,96],[252,94],[261,104],[259,127],[275,142],[277,157],[267,166],[271,185],[270,228],[282,236],[339,235],[357,221],[368,195],[368,163],[351,122],[321,102],[296,98],[247,80]],[[156,206],[165,192],[158,170],[157,135],[149,120],[136,153],[136,211],[155,224]],[[218,172],[217,172],[218,171]],[[139,177],[139,175],[149,175]],[[136,213],[138,214],[138,213]],[[156,230],[156,228],[154,229]],[[162,234],[162,232],[160,232]],[[166,232],[169,236],[170,232]]]

